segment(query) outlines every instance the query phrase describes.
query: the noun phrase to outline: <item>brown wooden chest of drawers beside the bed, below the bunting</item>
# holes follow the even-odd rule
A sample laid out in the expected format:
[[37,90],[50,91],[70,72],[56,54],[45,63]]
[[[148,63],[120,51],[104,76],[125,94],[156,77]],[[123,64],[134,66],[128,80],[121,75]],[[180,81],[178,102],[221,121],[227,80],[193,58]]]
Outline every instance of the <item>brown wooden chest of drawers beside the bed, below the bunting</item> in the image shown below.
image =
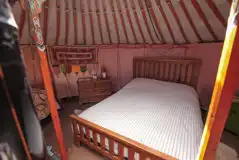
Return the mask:
[[112,94],[110,79],[78,79],[79,104],[100,102]]

